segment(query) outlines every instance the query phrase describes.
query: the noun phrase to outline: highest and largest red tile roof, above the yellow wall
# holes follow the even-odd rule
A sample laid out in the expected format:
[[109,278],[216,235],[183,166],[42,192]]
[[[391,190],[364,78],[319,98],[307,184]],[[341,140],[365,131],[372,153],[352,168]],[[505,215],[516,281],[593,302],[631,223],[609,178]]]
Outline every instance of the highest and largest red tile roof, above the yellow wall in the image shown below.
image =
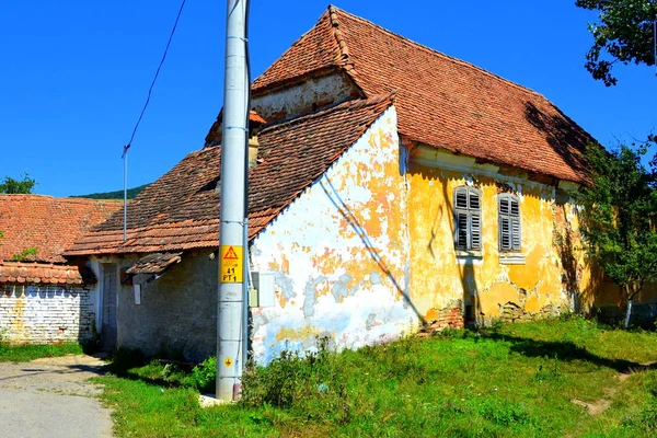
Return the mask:
[[591,137],[544,96],[337,8],[253,83],[253,93],[347,72],[365,95],[396,91],[400,134],[411,141],[531,173],[583,182]]

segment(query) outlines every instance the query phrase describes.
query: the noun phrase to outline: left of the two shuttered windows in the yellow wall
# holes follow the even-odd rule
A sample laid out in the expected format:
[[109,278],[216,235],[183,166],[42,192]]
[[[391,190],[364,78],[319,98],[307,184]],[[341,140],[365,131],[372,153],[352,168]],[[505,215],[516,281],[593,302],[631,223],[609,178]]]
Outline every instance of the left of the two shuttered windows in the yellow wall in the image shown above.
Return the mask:
[[473,187],[454,191],[454,245],[457,250],[482,249],[481,193]]

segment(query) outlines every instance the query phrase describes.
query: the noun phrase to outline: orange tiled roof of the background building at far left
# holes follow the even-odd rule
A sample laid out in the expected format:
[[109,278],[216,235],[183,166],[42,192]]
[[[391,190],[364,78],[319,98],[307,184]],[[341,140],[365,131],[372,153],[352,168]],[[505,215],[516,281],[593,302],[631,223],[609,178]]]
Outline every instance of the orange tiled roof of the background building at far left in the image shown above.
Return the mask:
[[65,263],[64,250],[120,206],[114,200],[0,195],[0,261],[36,247],[36,255],[26,260]]

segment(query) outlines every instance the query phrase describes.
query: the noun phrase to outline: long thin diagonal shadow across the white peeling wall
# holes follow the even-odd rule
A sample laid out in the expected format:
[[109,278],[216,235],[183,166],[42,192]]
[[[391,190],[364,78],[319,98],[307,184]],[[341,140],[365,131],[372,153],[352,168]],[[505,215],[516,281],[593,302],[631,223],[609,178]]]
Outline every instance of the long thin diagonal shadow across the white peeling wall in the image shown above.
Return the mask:
[[388,277],[388,279],[390,280],[390,283],[396,289],[397,293],[403,297],[404,302],[406,303],[406,306],[408,306],[413,310],[413,312],[417,315],[417,318],[420,321],[422,325],[426,326],[427,325],[426,319],[424,318],[424,315],[422,315],[418,312],[417,308],[413,303],[413,300],[411,299],[411,296],[410,296],[408,290],[407,290],[408,285],[405,285],[406,289],[404,289],[400,285],[400,283],[396,280],[396,278],[394,277],[394,275],[392,274],[392,272],[385,265],[385,262],[381,257],[380,251],[377,250],[377,247],[372,244],[372,242],[370,241],[369,237],[367,235],[367,233],[365,231],[365,228],[361,227],[361,224],[358,221],[358,219],[356,218],[356,216],[351,212],[351,210],[349,209],[349,207],[347,207],[347,205],[341,198],[341,196],[337,193],[337,191],[335,189],[335,186],[333,185],[333,183],[331,183],[331,181],[327,177],[324,176],[320,181],[320,186],[322,187],[322,189],[326,194],[326,197],[328,198],[328,200],[331,200],[331,203],[335,206],[335,208],[337,208],[337,210],[339,211],[339,214],[345,218],[345,220],[354,229],[354,231],[356,232],[356,234],[360,238],[360,240],[362,241],[362,244],[365,245],[365,247],[366,247],[368,254],[370,255],[370,257],[377,263],[377,265],[379,266],[379,268],[381,269],[381,272],[385,275],[385,277]]

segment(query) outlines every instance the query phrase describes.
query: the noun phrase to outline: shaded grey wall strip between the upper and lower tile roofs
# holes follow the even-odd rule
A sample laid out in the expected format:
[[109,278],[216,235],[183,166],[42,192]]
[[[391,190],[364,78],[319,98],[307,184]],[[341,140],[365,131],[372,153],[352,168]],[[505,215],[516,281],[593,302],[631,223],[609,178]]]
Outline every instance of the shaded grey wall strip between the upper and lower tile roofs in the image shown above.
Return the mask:
[[359,95],[344,73],[311,78],[267,94],[254,95],[251,106],[267,122],[298,116]]

